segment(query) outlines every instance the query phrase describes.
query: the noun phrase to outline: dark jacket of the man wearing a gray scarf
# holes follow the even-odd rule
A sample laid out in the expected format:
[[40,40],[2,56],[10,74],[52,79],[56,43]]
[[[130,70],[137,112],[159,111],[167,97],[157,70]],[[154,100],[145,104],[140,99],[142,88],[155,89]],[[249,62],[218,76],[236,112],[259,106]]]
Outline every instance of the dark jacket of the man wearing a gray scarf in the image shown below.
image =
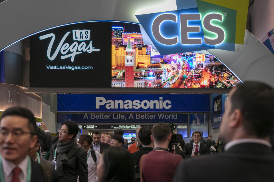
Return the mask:
[[[51,155],[49,156],[49,161],[52,161],[54,158],[54,152],[55,148],[57,147],[59,136],[46,134],[39,127],[37,127],[37,135],[39,139],[43,140],[43,142],[50,148]],[[72,140],[75,140],[75,138],[73,138]],[[78,145],[75,143],[74,146],[72,146],[67,152],[68,160],[62,162],[64,176],[59,176],[59,180],[65,182],[75,182],[77,181],[77,177],[79,175],[80,182],[87,182],[88,165],[86,164],[86,156],[86,150],[82,147],[78,147]],[[78,161],[78,164],[76,164],[76,161]]]

